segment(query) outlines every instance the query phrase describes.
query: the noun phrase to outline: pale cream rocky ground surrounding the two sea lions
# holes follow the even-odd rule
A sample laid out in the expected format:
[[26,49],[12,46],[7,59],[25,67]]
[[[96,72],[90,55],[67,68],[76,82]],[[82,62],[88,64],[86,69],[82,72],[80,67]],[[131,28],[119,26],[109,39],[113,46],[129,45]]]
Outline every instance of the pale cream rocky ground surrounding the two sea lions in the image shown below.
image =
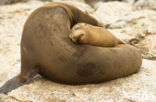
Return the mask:
[[[7,95],[0,94],[0,102],[155,102],[156,6],[142,2],[134,6],[100,1],[90,6],[84,0],[53,1],[63,1],[89,13],[116,37],[137,47],[144,58],[141,70],[125,78],[80,86],[58,84],[39,76]],[[19,45],[25,20],[34,9],[48,2],[31,0],[0,6],[0,86],[20,71]]]

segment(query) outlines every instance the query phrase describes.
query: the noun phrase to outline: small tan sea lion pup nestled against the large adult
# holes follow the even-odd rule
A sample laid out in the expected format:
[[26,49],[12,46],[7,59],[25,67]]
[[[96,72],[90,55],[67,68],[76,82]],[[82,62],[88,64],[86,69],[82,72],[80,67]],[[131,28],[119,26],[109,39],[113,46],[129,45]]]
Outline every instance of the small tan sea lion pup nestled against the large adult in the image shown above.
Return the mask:
[[78,23],[73,26],[69,37],[75,43],[89,44],[102,47],[114,47],[123,44],[105,27],[93,26],[86,23]]

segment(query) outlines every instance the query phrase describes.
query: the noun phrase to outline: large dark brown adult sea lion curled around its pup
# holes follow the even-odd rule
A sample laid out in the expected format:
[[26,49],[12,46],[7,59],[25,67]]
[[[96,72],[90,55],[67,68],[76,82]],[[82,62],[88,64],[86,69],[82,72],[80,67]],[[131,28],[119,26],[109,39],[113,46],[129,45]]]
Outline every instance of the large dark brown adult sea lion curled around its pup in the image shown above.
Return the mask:
[[77,23],[102,26],[79,9],[49,3],[27,19],[21,39],[21,72],[7,81],[7,93],[32,80],[36,74],[64,84],[99,83],[138,72],[142,58],[130,45],[105,48],[74,44],[70,30]]

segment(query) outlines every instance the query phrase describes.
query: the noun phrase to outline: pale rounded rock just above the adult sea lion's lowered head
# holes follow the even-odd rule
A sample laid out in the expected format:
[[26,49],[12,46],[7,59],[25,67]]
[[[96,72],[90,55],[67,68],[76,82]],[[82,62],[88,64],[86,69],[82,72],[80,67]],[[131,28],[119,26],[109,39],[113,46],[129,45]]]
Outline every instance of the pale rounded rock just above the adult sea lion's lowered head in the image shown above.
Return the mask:
[[122,2],[97,3],[95,9],[96,11],[93,13],[93,16],[103,24],[112,24],[122,20],[125,15],[135,10],[132,5]]

